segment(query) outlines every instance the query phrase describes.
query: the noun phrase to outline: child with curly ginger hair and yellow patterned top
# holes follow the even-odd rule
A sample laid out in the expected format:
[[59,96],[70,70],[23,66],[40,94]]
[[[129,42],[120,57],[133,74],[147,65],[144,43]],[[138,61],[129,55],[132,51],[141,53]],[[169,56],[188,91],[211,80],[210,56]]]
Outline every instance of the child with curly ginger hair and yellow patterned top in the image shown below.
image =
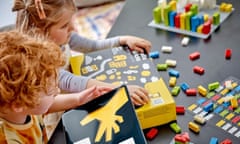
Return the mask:
[[54,42],[16,31],[0,33],[1,144],[47,144],[40,115],[75,108],[111,90],[58,94],[64,60]]

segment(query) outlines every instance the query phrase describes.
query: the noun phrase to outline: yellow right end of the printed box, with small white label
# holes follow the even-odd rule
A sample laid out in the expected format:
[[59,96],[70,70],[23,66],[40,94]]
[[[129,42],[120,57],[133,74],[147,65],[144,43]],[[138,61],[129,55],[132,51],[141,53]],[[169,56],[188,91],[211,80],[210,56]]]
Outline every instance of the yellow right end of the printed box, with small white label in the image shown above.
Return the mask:
[[142,129],[167,124],[177,119],[176,104],[162,78],[144,86],[151,101],[136,109]]

